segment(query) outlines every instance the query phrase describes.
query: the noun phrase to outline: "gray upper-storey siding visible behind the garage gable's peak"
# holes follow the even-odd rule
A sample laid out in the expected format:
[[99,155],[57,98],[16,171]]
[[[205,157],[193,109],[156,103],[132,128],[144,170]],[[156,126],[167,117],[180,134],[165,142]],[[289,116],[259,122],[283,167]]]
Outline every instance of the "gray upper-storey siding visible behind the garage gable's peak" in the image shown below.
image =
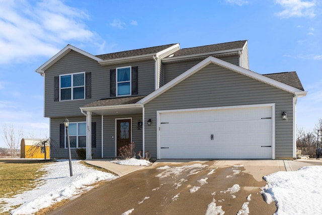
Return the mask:
[[[233,56],[223,56],[223,57],[217,57],[221,60],[227,61],[229,63],[232,63],[234,65],[239,65],[239,59],[238,55]],[[194,65],[198,64],[205,58],[198,58],[194,60],[185,60],[180,62],[167,62],[164,64],[164,84],[167,84],[171,80],[175,79],[176,77],[183,74],[185,71],[193,67]]]

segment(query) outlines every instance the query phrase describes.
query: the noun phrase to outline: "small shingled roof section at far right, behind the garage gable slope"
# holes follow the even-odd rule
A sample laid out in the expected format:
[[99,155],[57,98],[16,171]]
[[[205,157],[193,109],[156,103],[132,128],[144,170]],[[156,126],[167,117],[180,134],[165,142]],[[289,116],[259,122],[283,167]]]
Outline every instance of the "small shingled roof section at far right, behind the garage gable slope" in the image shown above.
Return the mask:
[[304,91],[301,81],[299,80],[296,71],[289,71],[285,73],[265,74],[267,78],[287,84],[291,87]]

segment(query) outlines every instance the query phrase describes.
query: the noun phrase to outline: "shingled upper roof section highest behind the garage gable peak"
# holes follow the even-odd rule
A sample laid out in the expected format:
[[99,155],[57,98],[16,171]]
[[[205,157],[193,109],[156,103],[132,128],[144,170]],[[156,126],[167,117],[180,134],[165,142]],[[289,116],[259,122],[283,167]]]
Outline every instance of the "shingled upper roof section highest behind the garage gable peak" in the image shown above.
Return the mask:
[[237,48],[242,49],[245,46],[246,42],[247,40],[239,40],[235,42],[219,43],[219,44],[198,46],[198,47],[192,47],[192,48],[183,48],[173,53],[174,54],[173,57],[224,51],[224,50],[231,50],[231,49],[237,49]]

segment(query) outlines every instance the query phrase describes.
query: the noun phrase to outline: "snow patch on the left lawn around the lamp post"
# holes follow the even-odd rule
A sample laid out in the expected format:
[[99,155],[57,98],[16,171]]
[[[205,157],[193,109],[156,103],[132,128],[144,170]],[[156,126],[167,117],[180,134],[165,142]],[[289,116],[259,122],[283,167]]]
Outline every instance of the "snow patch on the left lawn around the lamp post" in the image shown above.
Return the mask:
[[[102,180],[113,180],[117,176],[82,165],[79,161],[72,161],[72,173],[70,177],[69,162],[59,161],[46,165],[43,170],[47,173],[40,178],[40,184],[33,190],[15,195],[13,198],[0,198],[4,201],[0,213],[10,211],[11,214],[31,214],[39,209],[63,199],[75,198],[84,191],[91,190],[89,186]],[[19,205],[12,210],[12,206]]]

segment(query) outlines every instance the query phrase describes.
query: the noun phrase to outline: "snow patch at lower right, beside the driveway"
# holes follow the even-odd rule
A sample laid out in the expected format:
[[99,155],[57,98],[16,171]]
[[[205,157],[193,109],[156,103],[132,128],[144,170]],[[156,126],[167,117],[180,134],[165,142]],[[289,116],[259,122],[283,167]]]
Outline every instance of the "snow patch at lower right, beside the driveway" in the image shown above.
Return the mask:
[[265,176],[266,202],[276,202],[278,215],[322,214],[322,166],[308,166],[294,172],[276,172]]

